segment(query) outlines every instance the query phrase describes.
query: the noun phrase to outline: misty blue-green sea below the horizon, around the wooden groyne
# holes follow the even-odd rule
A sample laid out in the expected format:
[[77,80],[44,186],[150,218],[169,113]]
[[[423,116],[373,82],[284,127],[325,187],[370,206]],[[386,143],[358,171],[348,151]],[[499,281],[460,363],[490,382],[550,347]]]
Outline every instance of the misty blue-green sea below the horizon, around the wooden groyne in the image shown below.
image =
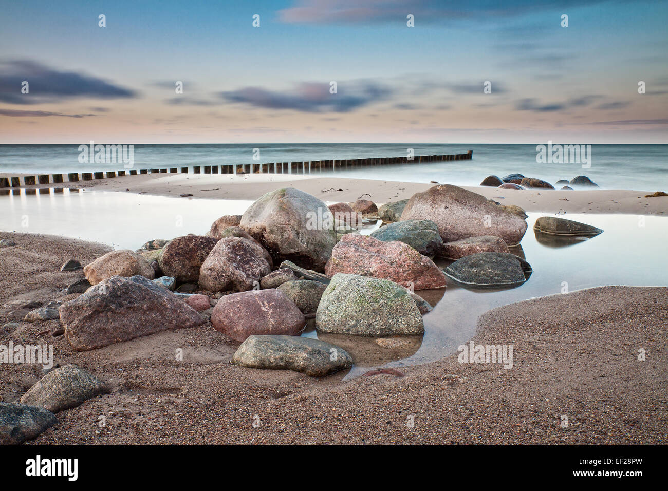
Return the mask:
[[[102,143],[102,142],[96,142]],[[558,143],[558,142],[555,142]],[[122,164],[80,164],[78,145],[0,145],[0,172],[93,172],[122,170]],[[253,160],[259,148],[260,159]],[[473,150],[473,160],[393,165],[337,171],[338,176],[448,182],[475,186],[490,174],[520,172],[549,182],[584,174],[601,188],[668,190],[668,145],[593,145],[591,168],[582,164],[538,164],[534,144],[174,144],[134,146],[134,168],[166,168],[339,158],[456,154]]]

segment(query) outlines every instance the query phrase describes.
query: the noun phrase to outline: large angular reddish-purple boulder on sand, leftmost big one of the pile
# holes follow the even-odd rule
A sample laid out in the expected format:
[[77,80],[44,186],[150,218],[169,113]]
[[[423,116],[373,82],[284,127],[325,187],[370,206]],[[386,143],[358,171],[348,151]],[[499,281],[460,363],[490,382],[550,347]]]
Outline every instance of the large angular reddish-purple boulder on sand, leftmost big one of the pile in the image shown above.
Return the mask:
[[204,323],[184,301],[142,276],[115,276],[98,283],[63,303],[60,320],[75,351]]

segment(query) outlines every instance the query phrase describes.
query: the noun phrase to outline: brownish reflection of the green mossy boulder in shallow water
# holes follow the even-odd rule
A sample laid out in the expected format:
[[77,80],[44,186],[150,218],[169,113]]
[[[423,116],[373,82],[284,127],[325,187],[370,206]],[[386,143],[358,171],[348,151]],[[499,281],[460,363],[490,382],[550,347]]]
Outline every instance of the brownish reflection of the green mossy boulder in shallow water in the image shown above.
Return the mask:
[[318,339],[342,347],[355,365],[385,365],[413,356],[422,346],[422,336],[363,337],[318,331]]

